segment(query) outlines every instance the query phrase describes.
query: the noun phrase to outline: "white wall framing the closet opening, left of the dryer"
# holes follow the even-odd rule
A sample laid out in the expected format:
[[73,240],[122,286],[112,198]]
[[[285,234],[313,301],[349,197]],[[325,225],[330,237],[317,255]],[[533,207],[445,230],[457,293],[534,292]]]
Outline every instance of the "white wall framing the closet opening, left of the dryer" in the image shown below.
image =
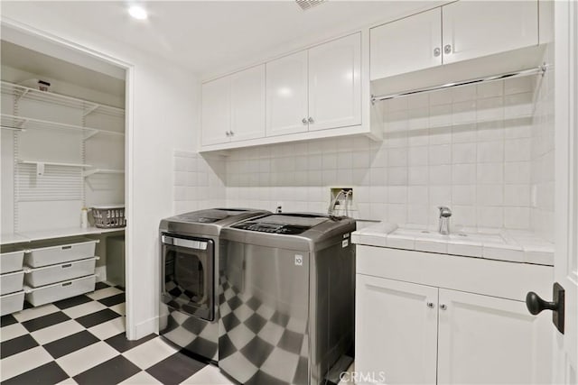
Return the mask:
[[172,215],[173,151],[196,148],[199,84],[185,69],[91,34],[57,14],[46,17],[33,3],[5,2],[2,13],[6,23],[22,23],[133,66],[128,95],[132,96],[134,120],[126,137],[130,150],[130,172],[126,174],[127,335],[139,338],[152,333],[158,314],[157,229],[160,219]]

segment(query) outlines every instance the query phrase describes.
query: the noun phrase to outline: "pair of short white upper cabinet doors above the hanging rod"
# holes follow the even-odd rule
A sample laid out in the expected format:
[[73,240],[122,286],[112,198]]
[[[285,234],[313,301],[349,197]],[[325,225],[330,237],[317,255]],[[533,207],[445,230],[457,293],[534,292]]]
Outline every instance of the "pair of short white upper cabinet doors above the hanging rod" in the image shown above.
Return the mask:
[[536,0],[461,0],[372,28],[370,79],[537,44]]

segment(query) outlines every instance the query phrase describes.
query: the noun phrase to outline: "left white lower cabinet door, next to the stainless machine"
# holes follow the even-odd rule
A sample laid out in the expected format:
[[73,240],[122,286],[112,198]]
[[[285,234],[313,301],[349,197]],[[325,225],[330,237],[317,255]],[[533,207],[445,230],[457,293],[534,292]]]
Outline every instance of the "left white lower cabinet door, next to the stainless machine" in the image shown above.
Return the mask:
[[357,275],[357,384],[435,383],[438,289]]

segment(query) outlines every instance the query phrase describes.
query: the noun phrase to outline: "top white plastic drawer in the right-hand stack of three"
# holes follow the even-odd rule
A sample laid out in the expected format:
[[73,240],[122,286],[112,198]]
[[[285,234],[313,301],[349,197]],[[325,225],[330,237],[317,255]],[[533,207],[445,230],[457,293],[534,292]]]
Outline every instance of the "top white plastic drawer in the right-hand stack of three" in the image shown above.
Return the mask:
[[75,243],[50,243],[26,252],[24,263],[31,268],[55,265],[68,261],[94,257],[97,240],[82,240]]

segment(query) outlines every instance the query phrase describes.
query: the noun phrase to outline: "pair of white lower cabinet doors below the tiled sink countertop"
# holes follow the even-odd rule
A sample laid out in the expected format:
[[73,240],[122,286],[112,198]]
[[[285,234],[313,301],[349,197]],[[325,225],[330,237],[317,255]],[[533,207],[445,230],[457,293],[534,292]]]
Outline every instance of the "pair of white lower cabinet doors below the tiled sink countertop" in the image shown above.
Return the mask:
[[522,301],[357,274],[359,383],[545,383],[548,317]]

